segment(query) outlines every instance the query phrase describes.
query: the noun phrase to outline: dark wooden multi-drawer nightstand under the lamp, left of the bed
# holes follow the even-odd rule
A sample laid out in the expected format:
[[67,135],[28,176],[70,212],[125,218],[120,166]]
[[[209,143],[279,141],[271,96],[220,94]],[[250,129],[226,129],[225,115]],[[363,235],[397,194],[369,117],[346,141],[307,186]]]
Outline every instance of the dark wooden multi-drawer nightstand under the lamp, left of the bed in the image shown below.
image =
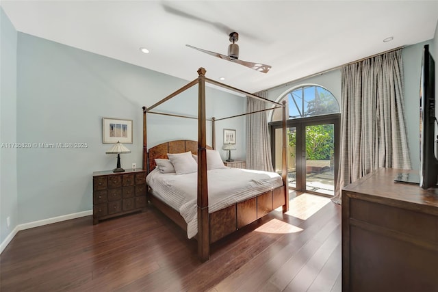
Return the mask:
[[146,170],[93,172],[93,224],[146,207]]

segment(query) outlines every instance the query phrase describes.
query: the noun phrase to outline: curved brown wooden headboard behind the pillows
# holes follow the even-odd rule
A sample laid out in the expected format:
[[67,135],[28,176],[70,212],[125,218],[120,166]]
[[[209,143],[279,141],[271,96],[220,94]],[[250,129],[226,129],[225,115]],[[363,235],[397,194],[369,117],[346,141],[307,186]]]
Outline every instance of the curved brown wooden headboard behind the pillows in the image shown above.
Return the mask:
[[[207,149],[211,149],[207,145]],[[198,154],[198,142],[192,140],[175,140],[169,141],[157,146],[153,146],[148,151],[148,173],[154,170],[157,164],[155,163],[155,158],[168,159],[168,153],[183,153],[191,151],[194,155]]]

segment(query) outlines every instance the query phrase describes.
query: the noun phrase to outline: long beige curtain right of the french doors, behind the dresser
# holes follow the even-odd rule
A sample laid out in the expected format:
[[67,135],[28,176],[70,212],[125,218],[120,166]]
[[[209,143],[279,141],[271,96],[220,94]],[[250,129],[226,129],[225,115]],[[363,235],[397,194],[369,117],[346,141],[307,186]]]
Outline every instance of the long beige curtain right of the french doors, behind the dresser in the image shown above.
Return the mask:
[[401,49],[342,71],[341,149],[333,202],[342,187],[377,168],[411,168],[404,124]]

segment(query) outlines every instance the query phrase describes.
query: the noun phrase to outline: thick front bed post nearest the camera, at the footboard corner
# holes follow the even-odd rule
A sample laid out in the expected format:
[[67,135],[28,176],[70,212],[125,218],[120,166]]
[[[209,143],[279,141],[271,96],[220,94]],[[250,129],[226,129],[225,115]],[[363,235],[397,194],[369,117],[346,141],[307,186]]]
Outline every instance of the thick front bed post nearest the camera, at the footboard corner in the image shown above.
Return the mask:
[[205,72],[198,69],[198,257],[209,259],[209,212],[207,187],[207,142],[205,139]]

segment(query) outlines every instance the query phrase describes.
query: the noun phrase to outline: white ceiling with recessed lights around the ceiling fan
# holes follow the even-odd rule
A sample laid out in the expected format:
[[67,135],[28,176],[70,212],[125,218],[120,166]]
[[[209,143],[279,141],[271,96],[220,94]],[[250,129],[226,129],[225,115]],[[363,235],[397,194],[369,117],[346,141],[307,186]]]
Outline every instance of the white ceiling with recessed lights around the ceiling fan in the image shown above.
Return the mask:
[[[257,92],[389,49],[430,40],[438,1],[1,1],[23,33],[191,81],[206,76]],[[263,74],[185,47],[240,59]],[[391,42],[383,39],[394,37]],[[149,54],[140,52],[149,49]]]

